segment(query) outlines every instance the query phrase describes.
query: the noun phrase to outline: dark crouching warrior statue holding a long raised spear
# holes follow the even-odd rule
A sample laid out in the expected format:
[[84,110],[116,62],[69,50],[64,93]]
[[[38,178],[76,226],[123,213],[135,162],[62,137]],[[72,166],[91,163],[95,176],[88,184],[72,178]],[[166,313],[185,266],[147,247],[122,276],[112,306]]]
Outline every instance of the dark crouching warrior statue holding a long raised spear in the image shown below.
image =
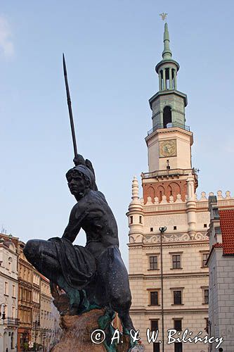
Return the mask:
[[[65,61],[63,63],[65,67]],[[67,81],[66,87],[68,89]],[[69,91],[67,102],[70,102]],[[71,113],[70,106],[70,118]],[[48,241],[31,239],[24,253],[50,280],[51,287],[59,287],[69,298],[69,308],[62,314],[77,315],[93,308],[105,308],[110,316],[118,313],[123,332],[127,333],[134,329],[129,316],[131,292],[119,252],[117,222],[105,196],[98,191],[91,162],[77,153],[76,144],[74,151],[75,166],[67,172],[66,178],[77,203],[63,236]],[[81,229],[86,233],[84,247],[72,244]]]

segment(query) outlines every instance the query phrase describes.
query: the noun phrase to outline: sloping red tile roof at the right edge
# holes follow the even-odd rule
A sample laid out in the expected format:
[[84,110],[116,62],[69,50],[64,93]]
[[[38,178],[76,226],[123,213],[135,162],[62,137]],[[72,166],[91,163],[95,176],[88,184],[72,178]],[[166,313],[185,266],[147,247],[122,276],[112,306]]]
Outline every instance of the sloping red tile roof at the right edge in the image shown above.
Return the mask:
[[219,210],[223,254],[234,255],[234,210]]

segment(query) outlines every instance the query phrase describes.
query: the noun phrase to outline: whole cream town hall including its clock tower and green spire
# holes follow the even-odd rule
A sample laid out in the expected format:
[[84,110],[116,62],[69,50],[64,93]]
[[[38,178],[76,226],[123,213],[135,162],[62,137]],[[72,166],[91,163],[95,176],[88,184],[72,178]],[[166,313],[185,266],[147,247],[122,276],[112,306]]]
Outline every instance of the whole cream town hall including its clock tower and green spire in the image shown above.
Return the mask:
[[[159,92],[150,99],[152,130],[145,138],[149,171],[141,175],[141,199],[134,177],[127,213],[131,318],[145,351],[208,351],[202,342],[169,340],[167,332],[175,329],[174,337],[180,339],[186,329],[193,332],[191,339],[199,332],[200,337],[207,335],[209,303],[208,200],[204,192],[200,199],[195,193],[193,133],[185,125],[187,96],[177,90],[179,65],[171,58],[167,23],[162,61],[155,69]],[[234,202],[230,192],[223,197],[218,191],[219,206],[227,201]],[[148,343],[147,329],[159,330],[154,343]]]

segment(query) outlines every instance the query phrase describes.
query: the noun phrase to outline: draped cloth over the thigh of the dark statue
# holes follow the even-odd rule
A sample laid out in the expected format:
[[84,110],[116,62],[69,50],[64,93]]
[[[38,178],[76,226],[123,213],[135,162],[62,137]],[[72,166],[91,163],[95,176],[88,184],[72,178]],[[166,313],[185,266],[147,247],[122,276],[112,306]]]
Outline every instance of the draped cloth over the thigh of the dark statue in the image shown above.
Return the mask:
[[67,284],[74,289],[84,289],[96,272],[93,254],[83,246],[72,244],[65,238],[48,239],[57,252],[58,262]]

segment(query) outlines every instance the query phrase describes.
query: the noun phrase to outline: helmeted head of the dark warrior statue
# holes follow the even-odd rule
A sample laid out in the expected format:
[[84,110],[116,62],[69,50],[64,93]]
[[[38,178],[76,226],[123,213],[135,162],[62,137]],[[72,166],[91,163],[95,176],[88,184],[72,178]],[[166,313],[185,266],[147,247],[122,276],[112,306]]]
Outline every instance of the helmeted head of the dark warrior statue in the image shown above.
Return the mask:
[[68,187],[76,198],[84,196],[86,191],[92,189],[94,175],[85,165],[77,165],[66,173]]

